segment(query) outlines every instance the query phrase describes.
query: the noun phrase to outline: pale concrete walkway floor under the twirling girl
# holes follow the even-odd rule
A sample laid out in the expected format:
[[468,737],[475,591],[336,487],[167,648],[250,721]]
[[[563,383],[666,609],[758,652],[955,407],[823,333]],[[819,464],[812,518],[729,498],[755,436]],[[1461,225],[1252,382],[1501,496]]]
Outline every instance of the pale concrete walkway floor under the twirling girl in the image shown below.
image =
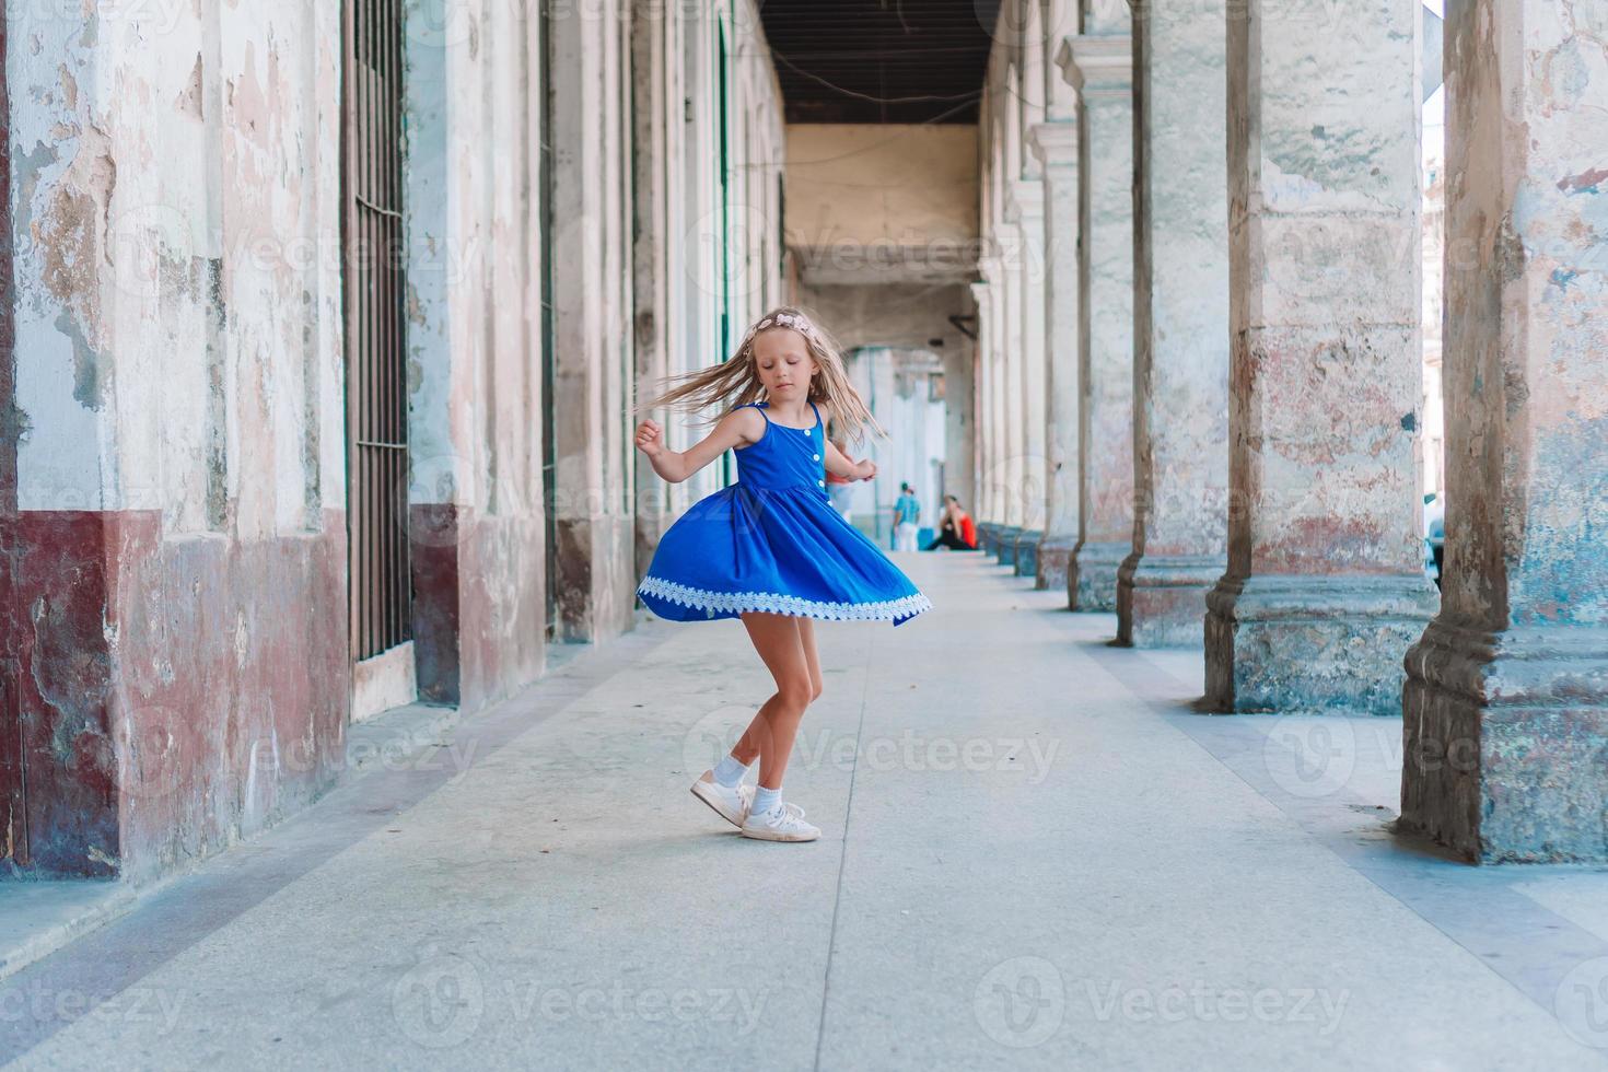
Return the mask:
[[645,619],[0,980],[16,1067],[1608,1067],[1608,871],[1391,837],[1401,722],[1195,714],[982,556],[818,625],[786,797],[687,792],[769,694]]

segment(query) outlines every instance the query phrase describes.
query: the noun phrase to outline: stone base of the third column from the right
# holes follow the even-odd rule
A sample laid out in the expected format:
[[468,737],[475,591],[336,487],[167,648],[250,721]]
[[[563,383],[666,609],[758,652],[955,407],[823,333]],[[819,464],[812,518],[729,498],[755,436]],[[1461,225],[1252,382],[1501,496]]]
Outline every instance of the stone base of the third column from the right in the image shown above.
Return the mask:
[[1229,567],[1222,554],[1129,554],[1116,577],[1116,640],[1132,648],[1200,648],[1206,593]]

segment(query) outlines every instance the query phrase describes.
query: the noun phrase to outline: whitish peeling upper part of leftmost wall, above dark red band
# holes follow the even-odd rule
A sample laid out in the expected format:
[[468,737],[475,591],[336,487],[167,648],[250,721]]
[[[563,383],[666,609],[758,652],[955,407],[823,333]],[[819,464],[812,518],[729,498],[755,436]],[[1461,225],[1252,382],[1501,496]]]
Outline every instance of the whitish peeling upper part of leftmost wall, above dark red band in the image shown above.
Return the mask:
[[344,500],[338,21],[167,8],[13,24],[19,508],[317,530]]

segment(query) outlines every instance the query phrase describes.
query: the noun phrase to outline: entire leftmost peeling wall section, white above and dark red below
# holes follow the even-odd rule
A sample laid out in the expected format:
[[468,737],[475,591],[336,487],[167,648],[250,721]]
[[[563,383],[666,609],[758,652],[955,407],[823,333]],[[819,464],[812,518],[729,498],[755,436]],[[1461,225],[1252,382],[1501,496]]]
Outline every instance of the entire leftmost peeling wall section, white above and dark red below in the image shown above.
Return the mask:
[[29,837],[143,879],[339,754],[339,8],[8,18]]

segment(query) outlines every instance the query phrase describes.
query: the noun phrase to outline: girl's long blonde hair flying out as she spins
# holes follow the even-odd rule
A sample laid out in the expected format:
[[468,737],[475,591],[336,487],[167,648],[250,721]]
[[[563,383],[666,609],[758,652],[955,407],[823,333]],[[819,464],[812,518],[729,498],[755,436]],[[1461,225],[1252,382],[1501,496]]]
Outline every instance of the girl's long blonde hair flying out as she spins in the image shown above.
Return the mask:
[[809,313],[796,305],[778,305],[756,320],[743,336],[736,354],[728,360],[709,368],[664,378],[662,383],[675,386],[646,402],[638,402],[635,411],[642,413],[645,410],[671,407],[696,413],[711,407],[720,407],[722,411],[717,416],[703,418],[701,421],[714,424],[725,411],[748,405],[749,402],[759,402],[765,397],[765,386],[759,381],[759,368],[754,365],[754,339],[762,331],[777,331],[781,328],[798,331],[804,338],[804,346],[809,349],[810,358],[815,362],[818,374],[809,378],[809,400],[823,410],[822,421],[833,421],[838,434],[847,436],[855,444],[865,439],[867,428],[878,436],[888,436],[883,426],[876,423],[876,418],[872,416],[872,411],[865,408],[860,392],[849,383],[849,371],[843,363],[838,342]]

